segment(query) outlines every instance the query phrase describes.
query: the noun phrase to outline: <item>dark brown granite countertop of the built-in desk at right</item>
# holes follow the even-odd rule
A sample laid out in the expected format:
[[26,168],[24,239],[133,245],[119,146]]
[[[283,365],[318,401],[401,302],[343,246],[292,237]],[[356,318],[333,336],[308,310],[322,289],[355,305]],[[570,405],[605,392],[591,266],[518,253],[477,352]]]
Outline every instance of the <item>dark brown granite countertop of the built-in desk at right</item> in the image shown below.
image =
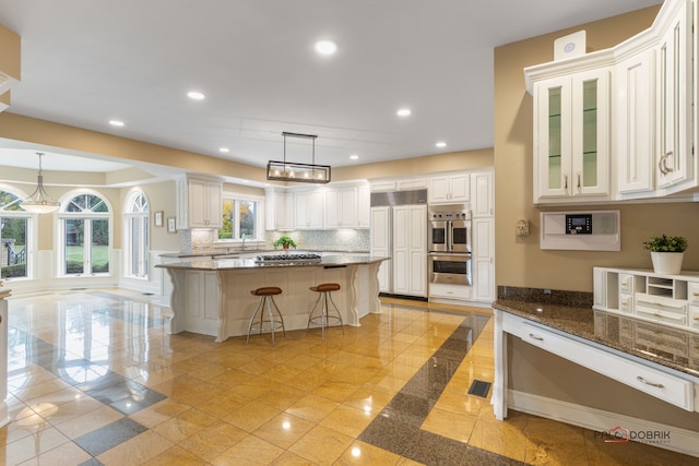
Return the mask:
[[[498,299],[495,309],[699,377],[699,334],[591,307]],[[541,310],[541,311],[540,311]]]

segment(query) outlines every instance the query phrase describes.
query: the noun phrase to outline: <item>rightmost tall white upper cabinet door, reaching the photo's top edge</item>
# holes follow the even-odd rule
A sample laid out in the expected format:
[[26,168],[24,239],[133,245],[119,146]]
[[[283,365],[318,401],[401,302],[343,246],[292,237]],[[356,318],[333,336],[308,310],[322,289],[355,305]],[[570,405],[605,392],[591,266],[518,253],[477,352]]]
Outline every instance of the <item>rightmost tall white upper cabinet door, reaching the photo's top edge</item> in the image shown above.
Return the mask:
[[657,188],[694,177],[691,2],[666,3],[674,8],[657,46]]

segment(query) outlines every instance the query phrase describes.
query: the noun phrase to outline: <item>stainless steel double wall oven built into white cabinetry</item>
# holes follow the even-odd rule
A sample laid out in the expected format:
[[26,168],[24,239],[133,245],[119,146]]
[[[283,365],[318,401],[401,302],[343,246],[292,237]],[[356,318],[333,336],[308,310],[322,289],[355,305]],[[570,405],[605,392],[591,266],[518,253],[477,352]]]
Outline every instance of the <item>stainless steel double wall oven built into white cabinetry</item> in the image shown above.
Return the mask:
[[471,211],[466,204],[427,210],[429,283],[470,286]]

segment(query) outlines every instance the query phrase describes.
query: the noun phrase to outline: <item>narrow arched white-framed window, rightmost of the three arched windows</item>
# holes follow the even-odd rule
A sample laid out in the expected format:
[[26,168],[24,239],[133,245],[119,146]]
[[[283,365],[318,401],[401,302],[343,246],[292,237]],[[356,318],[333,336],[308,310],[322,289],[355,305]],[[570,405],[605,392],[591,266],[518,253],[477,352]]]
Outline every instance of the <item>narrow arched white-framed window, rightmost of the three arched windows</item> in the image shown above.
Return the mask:
[[125,214],[125,276],[149,277],[149,201],[141,191],[127,199]]

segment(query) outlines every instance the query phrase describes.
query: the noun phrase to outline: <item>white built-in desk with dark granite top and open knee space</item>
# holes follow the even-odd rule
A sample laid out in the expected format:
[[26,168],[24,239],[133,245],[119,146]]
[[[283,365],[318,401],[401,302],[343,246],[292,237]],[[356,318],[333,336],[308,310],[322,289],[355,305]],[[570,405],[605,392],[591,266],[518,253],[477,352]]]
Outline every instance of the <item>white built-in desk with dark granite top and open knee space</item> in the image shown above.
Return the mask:
[[[508,407],[561,420],[595,431],[617,425],[626,429],[668,431],[672,442],[657,446],[699,456],[699,336],[695,332],[671,328],[642,320],[594,311],[591,308],[497,300],[495,318],[495,416],[502,420]],[[697,429],[679,429],[649,419],[635,419],[616,413],[537,397],[510,390],[508,334],[544,351],[629,387],[690,411]],[[553,378],[546,367],[531,377]],[[529,377],[529,375],[525,375]],[[582,380],[580,381],[582,382]]]

